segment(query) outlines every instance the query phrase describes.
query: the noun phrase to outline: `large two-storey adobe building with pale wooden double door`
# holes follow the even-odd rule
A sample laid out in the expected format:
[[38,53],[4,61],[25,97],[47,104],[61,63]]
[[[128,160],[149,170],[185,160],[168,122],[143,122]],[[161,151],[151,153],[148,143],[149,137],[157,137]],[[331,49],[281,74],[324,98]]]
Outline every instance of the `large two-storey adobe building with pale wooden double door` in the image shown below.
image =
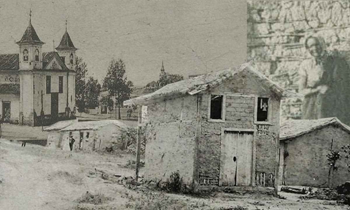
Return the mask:
[[274,187],[280,100],[299,95],[250,63],[168,84],[124,105],[142,105],[145,178],[179,170],[198,186]]

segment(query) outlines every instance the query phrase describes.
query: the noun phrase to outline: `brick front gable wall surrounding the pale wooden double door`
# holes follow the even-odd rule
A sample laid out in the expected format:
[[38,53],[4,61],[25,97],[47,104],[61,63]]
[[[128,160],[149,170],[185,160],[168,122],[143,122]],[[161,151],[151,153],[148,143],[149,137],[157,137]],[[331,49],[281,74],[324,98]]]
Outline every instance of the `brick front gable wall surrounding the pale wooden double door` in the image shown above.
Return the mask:
[[[198,145],[198,173],[199,176],[219,177],[221,128],[253,128],[254,126],[254,97],[230,96],[229,93],[257,94],[258,96],[273,96],[272,92],[264,91],[262,84],[254,79],[253,75],[239,73],[235,79],[226,82],[209,93],[202,95],[201,100],[201,139]],[[268,90],[268,88],[266,88]],[[227,93],[225,122],[208,121],[208,105],[210,93]],[[266,136],[254,132],[256,142],[255,165],[256,171],[265,173],[275,172],[276,134],[279,133],[278,100],[271,98],[272,124],[268,125],[269,133]]]

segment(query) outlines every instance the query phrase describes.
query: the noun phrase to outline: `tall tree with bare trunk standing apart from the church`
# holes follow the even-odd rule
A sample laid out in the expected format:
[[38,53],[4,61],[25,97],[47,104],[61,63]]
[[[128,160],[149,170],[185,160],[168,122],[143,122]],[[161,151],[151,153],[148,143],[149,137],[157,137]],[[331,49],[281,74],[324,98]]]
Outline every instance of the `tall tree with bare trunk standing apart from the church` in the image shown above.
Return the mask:
[[123,102],[130,99],[133,83],[125,76],[125,63],[123,60],[112,59],[108,66],[107,75],[103,80],[103,88],[108,90],[111,97],[115,97],[118,107],[118,119],[120,119],[120,107]]

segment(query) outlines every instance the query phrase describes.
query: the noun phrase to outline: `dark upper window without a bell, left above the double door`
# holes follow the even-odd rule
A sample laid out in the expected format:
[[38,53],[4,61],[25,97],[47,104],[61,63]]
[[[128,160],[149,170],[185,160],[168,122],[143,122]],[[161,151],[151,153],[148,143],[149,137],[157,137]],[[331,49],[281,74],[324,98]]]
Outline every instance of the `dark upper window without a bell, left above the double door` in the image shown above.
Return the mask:
[[209,120],[225,120],[225,97],[221,94],[210,95]]

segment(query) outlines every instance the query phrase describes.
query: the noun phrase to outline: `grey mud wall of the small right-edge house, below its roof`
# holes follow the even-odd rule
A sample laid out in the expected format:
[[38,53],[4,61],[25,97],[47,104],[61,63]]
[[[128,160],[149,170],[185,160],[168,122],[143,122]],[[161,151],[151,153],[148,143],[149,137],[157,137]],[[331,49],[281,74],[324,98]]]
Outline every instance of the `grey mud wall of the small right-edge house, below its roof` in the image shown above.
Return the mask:
[[[341,128],[330,125],[287,142],[286,151],[289,155],[284,162],[286,184],[316,187],[327,182],[327,154],[331,140],[334,140],[332,150],[341,151],[341,146],[349,144],[349,135]],[[345,154],[341,152],[341,156]],[[345,158],[338,160],[336,166],[339,168],[333,175],[334,187],[349,181],[350,176]]]

